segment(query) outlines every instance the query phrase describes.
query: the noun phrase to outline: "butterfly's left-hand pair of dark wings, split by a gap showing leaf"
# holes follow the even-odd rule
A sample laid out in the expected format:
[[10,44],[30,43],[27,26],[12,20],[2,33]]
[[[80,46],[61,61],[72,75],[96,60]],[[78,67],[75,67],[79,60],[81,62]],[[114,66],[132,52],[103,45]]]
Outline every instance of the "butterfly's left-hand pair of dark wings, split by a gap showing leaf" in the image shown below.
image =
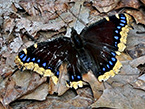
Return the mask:
[[53,82],[57,84],[59,67],[63,62],[68,64],[70,77],[68,82],[82,79],[77,57],[70,38],[59,37],[22,50],[16,57],[15,63],[23,70],[33,70],[40,75],[52,77]]

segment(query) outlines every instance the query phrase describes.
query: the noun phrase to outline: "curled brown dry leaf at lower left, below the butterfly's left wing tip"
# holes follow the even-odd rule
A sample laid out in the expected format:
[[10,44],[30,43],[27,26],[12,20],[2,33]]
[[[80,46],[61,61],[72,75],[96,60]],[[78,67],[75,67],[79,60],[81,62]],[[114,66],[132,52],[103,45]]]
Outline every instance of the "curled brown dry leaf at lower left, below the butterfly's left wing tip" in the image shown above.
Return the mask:
[[40,84],[45,81],[46,78],[40,78],[35,73],[33,73],[32,75],[26,71],[15,73],[9,79],[9,81],[7,81],[5,94],[1,95],[3,97],[2,104],[4,106],[8,105],[22,95],[36,89]]

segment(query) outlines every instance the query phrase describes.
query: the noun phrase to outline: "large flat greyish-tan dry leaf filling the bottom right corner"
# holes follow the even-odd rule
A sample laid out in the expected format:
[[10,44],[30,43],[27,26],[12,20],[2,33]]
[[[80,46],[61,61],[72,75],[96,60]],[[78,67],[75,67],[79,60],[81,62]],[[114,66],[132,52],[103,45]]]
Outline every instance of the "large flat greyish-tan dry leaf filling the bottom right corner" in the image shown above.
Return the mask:
[[123,87],[104,90],[100,99],[91,106],[92,108],[143,109],[145,106],[144,96],[144,91],[135,90],[128,84]]

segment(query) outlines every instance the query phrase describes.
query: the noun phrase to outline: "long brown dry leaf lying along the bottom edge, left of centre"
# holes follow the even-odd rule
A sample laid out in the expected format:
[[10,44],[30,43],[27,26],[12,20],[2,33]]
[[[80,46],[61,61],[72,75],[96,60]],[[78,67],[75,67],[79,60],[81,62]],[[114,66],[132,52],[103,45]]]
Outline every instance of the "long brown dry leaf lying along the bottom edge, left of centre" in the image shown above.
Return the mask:
[[[71,92],[69,92],[71,93]],[[65,95],[63,95],[65,96]],[[44,102],[34,102],[27,105],[27,108],[84,108],[92,104],[92,100],[80,96],[70,96],[64,99],[64,97],[49,96]]]

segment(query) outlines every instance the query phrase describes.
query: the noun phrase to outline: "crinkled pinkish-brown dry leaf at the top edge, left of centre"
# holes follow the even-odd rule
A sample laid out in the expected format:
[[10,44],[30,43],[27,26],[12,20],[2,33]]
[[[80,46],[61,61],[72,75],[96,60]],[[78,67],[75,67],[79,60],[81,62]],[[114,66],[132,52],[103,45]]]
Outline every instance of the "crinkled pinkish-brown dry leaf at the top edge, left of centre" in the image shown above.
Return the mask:
[[[58,13],[65,12],[68,7],[65,4],[67,1],[27,1],[21,0],[19,3],[15,3],[15,7],[18,10],[26,11],[30,15],[30,19],[35,21],[41,21],[43,23],[48,22],[51,19],[57,18],[56,11]],[[17,10],[17,11],[18,11]]]

